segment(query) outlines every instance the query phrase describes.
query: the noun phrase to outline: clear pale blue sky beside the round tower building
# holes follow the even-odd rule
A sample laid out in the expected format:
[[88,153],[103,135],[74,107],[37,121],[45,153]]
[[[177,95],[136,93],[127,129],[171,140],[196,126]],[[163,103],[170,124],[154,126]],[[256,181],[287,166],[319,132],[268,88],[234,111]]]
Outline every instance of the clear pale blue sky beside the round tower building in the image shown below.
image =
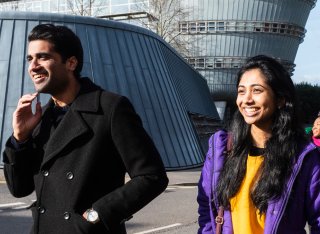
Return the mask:
[[300,44],[294,63],[296,64],[294,83],[307,82],[320,86],[320,1],[311,10],[307,24],[307,33]]

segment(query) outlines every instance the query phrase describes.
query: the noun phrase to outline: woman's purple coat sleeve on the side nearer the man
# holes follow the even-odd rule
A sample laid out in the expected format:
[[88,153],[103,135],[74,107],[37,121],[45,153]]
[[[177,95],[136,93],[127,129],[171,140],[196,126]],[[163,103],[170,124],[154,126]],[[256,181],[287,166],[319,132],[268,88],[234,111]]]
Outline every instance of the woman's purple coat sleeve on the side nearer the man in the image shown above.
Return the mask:
[[212,173],[213,173],[213,149],[212,149],[213,136],[209,139],[209,149],[204,162],[201,177],[198,183],[198,196],[197,201],[199,204],[198,234],[211,234],[213,233],[212,227],[212,211],[211,211],[211,197],[212,197]]

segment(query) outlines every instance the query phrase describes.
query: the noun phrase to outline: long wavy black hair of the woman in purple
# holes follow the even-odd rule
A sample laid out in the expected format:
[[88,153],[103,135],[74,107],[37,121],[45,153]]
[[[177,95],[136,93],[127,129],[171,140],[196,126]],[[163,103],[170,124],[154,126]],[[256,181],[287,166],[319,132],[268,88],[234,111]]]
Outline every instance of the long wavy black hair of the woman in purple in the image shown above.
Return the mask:
[[[267,211],[268,201],[279,198],[285,189],[292,161],[298,154],[298,143],[304,140],[304,130],[298,117],[294,84],[277,60],[264,55],[252,57],[240,69],[237,86],[242,75],[255,68],[264,74],[275,94],[275,101],[283,100],[283,105],[274,113],[272,134],[265,144],[264,161],[250,194],[253,204],[262,214]],[[227,209],[230,209],[230,198],[236,195],[244,179],[247,156],[252,147],[250,125],[244,121],[239,110],[235,112],[230,128],[232,148],[217,186],[218,200]]]

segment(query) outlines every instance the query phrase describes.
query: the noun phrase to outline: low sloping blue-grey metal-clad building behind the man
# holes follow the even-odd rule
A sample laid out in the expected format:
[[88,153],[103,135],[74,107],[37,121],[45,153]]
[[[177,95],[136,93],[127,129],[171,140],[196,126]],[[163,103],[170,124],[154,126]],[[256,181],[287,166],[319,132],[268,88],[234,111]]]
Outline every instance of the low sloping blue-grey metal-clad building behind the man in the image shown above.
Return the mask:
[[[74,30],[84,48],[82,76],[129,97],[167,169],[202,164],[204,150],[191,116],[217,120],[219,116],[206,80],[198,72],[149,30],[50,13],[0,12],[1,152],[12,131],[12,113],[19,97],[34,90],[27,73],[26,38],[41,23]],[[42,103],[48,98],[41,95]]]

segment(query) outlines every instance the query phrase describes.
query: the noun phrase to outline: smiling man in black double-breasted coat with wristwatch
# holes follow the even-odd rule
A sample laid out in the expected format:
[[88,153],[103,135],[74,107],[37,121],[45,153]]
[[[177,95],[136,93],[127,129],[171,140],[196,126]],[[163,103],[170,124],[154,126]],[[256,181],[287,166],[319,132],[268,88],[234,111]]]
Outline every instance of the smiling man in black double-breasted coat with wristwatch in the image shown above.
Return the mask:
[[[28,42],[36,93],[13,114],[3,157],[11,193],[35,190],[33,233],[126,233],[124,222],[168,184],[158,151],[127,98],[80,78],[83,50],[70,29],[38,25]],[[52,98],[33,113],[39,93]]]

